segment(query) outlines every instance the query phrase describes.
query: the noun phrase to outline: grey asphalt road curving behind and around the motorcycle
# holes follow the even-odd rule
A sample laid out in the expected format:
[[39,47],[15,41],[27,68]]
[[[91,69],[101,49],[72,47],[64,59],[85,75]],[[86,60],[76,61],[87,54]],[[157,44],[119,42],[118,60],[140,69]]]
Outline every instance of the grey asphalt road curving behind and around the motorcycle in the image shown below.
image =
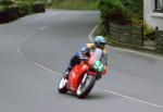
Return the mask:
[[47,10],[0,25],[0,112],[163,112],[163,59],[111,47],[110,72],[86,99],[58,92],[99,16]]

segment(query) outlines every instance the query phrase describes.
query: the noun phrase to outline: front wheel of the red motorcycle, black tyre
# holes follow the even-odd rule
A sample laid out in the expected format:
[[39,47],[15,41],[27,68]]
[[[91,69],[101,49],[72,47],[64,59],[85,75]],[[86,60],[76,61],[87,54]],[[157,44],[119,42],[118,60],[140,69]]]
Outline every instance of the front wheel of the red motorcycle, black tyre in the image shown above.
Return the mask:
[[96,83],[96,76],[88,75],[86,73],[77,88],[76,91],[77,98],[83,99],[84,97],[86,97],[92,89],[95,83]]

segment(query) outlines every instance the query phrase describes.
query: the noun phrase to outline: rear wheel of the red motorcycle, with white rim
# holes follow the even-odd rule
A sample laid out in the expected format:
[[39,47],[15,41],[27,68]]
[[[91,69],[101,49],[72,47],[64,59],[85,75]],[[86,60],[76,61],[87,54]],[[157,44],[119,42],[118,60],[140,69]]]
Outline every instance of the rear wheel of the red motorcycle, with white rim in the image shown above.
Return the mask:
[[58,86],[58,90],[60,94],[65,94],[67,91],[66,83],[67,80],[64,77],[62,77]]

